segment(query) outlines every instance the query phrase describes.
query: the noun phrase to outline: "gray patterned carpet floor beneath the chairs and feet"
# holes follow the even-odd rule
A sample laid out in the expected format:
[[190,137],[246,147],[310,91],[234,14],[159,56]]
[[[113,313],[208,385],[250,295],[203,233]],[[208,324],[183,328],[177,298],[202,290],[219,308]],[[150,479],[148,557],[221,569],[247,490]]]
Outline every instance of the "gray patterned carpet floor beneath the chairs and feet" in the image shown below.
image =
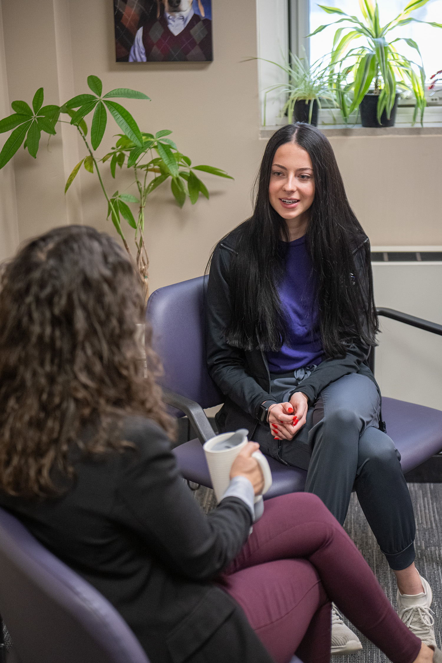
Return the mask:
[[[433,589],[435,635],[439,648],[442,644],[442,483],[409,483],[410,494],[416,518],[416,561],[419,573],[423,575]],[[205,512],[215,507],[213,491],[199,488],[193,493],[195,499]],[[360,509],[356,494],[353,493],[344,524],[345,530],[355,541],[360,552],[372,568],[382,589],[396,609],[396,581],[374,538],[365,516]],[[347,624],[349,624],[347,622]],[[351,626],[351,625],[350,625]],[[352,627],[353,628],[353,627]],[[382,654],[369,640],[359,635],[363,649],[351,656],[335,657],[336,663],[386,663],[388,658]]]

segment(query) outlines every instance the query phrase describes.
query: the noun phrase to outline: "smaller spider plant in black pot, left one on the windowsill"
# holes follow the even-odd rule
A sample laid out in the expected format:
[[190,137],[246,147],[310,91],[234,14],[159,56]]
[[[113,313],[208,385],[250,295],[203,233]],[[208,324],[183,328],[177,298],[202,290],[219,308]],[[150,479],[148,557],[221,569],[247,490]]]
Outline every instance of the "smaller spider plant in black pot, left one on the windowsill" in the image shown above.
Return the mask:
[[[251,58],[252,60],[264,60],[264,58]],[[335,104],[335,97],[328,84],[328,69],[323,65],[323,60],[317,60],[313,64],[307,64],[307,58],[302,60],[290,52],[290,61],[284,60],[283,64],[270,62],[286,72],[288,80],[277,83],[266,88],[264,93],[264,126],[266,124],[267,95],[274,90],[280,90],[287,95],[286,103],[280,111],[280,117],[287,115],[288,123],[307,122],[317,125],[317,113],[321,109],[321,99],[329,99]]]

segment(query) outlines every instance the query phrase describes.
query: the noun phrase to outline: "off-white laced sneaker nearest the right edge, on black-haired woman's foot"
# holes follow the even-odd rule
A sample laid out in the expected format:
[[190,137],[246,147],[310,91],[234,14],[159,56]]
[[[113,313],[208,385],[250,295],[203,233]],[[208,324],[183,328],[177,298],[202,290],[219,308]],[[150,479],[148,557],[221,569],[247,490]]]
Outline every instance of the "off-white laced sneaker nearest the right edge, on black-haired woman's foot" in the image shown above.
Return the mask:
[[399,589],[396,593],[396,600],[398,601],[398,615],[408,626],[410,631],[417,635],[428,646],[436,646],[434,637],[434,619],[431,616],[432,610],[429,609],[431,601],[433,601],[433,592],[431,587],[420,576],[423,593],[420,594],[401,594]]

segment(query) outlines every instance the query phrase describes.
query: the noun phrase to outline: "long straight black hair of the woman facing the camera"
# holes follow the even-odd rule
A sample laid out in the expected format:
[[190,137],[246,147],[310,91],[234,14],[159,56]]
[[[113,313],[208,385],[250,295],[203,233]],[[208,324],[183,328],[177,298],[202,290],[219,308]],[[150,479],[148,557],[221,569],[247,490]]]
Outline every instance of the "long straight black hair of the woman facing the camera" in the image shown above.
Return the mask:
[[[347,200],[329,141],[305,123],[281,127],[268,141],[255,182],[253,215],[234,231],[232,316],[226,339],[245,350],[279,350],[287,337],[277,286],[284,274],[288,247],[284,241],[290,236],[286,221],[272,208],[268,196],[274,154],[285,143],[296,143],[307,151],[313,166],[315,197],[306,246],[313,262],[323,349],[327,357],[343,357],[358,339],[376,344],[370,244]],[[359,269],[356,253],[362,261]]]

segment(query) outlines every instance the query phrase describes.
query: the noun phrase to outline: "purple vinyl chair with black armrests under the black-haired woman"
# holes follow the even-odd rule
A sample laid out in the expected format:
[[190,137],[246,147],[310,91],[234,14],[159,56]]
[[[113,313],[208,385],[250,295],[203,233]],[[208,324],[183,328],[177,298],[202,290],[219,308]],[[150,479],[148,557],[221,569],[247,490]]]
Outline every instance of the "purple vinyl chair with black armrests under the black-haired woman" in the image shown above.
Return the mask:
[[[215,433],[203,408],[223,402],[207,371],[204,342],[204,294],[207,276],[159,288],[148,299],[146,321],[153,330],[152,345],[161,358],[164,376],[160,384],[164,400],[176,408],[176,416],[188,416],[197,434],[195,440],[176,447],[174,453],[185,479],[211,488],[202,444]],[[389,308],[378,315],[442,335],[442,325],[427,322]],[[374,349],[370,355],[374,372]],[[387,433],[402,455],[404,473],[442,449],[442,412],[414,403],[382,398]],[[307,472],[286,467],[267,457],[273,484],[264,499],[303,491]]]

